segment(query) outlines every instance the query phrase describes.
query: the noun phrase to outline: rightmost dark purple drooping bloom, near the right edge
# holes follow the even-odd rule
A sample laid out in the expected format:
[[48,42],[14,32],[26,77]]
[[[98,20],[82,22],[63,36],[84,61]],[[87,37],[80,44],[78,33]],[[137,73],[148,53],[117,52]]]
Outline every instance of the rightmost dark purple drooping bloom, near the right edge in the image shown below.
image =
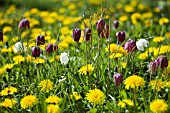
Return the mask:
[[168,59],[165,56],[158,57],[158,59],[155,62],[156,66],[160,67],[161,69],[168,67]]

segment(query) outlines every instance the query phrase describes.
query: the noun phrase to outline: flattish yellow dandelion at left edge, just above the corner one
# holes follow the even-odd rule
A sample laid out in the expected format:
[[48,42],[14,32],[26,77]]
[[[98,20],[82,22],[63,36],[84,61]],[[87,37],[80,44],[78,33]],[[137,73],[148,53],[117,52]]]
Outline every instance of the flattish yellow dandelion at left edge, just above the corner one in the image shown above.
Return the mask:
[[4,95],[13,95],[14,93],[17,93],[17,89],[15,87],[9,86],[1,91],[1,96]]

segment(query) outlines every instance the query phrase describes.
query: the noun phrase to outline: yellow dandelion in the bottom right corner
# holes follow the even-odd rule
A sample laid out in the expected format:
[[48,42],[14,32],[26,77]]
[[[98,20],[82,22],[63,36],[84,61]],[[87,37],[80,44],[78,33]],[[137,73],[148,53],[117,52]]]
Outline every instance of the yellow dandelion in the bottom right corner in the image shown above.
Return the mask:
[[153,113],[163,113],[168,110],[168,104],[163,99],[157,99],[150,104],[150,110]]

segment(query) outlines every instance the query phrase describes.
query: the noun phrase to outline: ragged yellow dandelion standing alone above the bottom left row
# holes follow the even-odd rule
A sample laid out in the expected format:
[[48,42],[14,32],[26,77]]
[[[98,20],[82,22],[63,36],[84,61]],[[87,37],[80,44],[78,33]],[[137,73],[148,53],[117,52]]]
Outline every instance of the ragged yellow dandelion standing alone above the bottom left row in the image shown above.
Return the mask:
[[42,87],[41,91],[46,91],[47,93],[53,89],[53,82],[49,79],[41,81],[39,85]]

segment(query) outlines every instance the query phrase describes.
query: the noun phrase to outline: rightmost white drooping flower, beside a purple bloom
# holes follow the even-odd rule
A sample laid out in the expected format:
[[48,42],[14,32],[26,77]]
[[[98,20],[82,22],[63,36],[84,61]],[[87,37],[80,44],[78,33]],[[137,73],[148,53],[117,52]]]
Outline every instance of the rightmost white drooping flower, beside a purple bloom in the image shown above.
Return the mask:
[[148,45],[149,45],[149,42],[145,39],[139,39],[136,42],[137,49],[141,51],[144,51],[144,47],[148,47]]

